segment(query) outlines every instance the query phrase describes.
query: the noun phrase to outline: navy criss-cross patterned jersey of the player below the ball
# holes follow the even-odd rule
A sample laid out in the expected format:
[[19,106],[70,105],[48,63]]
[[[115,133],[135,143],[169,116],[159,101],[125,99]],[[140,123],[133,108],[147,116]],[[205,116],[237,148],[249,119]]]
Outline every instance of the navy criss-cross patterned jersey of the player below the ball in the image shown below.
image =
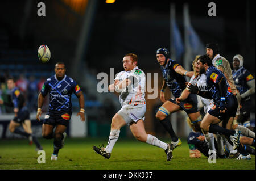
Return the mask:
[[72,109],[71,95],[80,91],[76,81],[67,75],[61,81],[58,81],[56,75],[53,75],[44,82],[41,94],[46,96],[49,92],[49,111],[64,111]]

